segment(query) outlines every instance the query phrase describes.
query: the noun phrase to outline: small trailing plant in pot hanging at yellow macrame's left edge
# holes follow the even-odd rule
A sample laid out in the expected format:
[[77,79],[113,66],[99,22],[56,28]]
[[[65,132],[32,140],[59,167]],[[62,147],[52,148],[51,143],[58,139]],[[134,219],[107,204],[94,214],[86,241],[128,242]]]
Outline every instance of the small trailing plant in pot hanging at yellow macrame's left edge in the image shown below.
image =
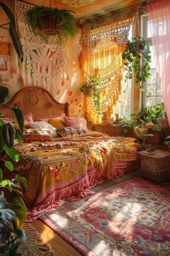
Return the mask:
[[97,110],[99,110],[99,88],[98,85],[101,84],[101,78],[99,76],[92,75],[89,77],[89,80],[84,82],[80,91],[84,93],[86,97],[93,97],[94,106],[96,106]]

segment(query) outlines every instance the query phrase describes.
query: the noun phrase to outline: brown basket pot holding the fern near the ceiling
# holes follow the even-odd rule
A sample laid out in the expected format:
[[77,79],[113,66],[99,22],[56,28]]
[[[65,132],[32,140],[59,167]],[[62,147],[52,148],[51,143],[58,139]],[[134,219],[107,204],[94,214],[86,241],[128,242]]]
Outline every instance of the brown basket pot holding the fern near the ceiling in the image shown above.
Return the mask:
[[42,14],[38,22],[38,28],[42,35],[59,35],[62,31],[62,18],[53,15],[52,12]]

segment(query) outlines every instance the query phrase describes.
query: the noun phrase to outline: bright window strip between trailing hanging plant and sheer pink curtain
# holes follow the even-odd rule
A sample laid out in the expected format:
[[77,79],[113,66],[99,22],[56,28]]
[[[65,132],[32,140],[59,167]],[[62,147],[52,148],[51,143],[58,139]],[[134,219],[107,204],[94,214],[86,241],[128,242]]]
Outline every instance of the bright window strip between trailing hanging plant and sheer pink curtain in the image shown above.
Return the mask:
[[[142,15],[141,17],[141,25],[142,25],[142,34],[143,38],[146,38],[151,44],[151,35],[148,24],[148,16],[147,14]],[[156,73],[156,63],[153,54],[153,46],[150,46],[151,50],[151,77],[146,82],[146,92],[142,93],[142,105],[143,106],[151,106],[156,103],[160,103],[162,101],[161,96],[161,88],[158,82],[158,74]],[[151,93],[150,97],[147,97],[148,93]]]

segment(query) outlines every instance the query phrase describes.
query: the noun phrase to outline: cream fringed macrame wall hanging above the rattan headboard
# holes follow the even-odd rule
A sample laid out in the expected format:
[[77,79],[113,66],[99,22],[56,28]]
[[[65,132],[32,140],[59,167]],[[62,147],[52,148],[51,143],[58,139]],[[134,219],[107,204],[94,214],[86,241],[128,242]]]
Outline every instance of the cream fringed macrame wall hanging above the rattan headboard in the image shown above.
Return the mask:
[[[50,36],[48,43],[44,43],[39,36],[35,37],[24,16],[31,7],[30,4],[16,1],[17,24],[24,51],[22,84],[42,86],[56,96],[59,85],[64,85],[64,80],[69,78],[68,53],[55,36]],[[65,76],[64,71],[67,72]]]

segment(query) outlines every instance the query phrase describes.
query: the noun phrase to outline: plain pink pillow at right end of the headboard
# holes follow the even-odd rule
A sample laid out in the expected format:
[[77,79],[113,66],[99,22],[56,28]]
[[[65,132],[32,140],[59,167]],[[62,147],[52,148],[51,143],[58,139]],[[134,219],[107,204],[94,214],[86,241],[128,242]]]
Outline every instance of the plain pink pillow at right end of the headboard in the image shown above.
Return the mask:
[[79,127],[87,130],[86,119],[84,119],[84,117],[71,118],[68,116],[63,116],[63,120],[66,124],[66,127]]

